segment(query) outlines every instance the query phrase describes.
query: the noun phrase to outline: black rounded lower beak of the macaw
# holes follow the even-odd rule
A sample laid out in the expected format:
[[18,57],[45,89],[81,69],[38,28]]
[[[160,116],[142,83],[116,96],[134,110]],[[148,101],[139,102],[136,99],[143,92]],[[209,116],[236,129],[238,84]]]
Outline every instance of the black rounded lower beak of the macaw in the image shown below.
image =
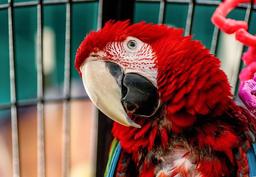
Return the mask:
[[[153,115],[159,107],[157,88],[142,75],[129,73],[122,81],[122,105],[127,114]],[[124,94],[124,90],[127,93]]]

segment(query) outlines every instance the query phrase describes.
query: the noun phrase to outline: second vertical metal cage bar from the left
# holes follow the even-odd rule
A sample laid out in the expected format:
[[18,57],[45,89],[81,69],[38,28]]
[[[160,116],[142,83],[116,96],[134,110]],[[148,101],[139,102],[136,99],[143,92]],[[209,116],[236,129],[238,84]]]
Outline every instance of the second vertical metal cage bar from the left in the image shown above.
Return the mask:
[[45,177],[45,135],[43,114],[43,5],[37,5],[37,176]]

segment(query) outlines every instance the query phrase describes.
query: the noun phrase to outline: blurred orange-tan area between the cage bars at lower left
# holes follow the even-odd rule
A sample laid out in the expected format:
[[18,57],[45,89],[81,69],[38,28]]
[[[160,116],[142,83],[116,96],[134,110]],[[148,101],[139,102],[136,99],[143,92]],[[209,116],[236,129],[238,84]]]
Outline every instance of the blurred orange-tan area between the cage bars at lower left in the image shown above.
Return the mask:
[[[61,176],[62,103],[45,104],[46,177]],[[92,102],[71,101],[70,176],[94,176],[95,140],[91,138]],[[37,176],[37,108],[18,110],[21,177]],[[93,132],[93,131],[92,131]],[[0,127],[0,177],[12,176],[11,122]]]

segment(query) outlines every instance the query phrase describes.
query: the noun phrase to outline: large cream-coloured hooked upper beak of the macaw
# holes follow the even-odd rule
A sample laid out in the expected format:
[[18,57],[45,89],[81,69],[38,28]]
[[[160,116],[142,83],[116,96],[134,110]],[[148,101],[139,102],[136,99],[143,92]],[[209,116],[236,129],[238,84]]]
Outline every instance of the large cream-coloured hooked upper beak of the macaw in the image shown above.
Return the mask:
[[141,128],[127,116],[121,103],[121,67],[107,61],[87,61],[81,66],[81,73],[84,88],[100,111],[119,124]]

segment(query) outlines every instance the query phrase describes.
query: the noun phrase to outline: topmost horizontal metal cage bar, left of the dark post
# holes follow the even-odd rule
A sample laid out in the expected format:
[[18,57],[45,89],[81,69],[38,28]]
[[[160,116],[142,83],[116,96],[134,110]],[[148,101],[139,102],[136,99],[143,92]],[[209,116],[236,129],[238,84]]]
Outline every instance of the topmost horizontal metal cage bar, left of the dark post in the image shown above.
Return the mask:
[[[83,3],[83,2],[97,2],[98,0],[72,0],[72,3]],[[69,0],[44,0],[42,2],[43,5],[54,5],[54,4],[65,4],[68,3]],[[14,8],[19,7],[30,7],[40,5],[38,1],[30,1],[30,2],[17,2],[13,3]],[[0,9],[7,9],[10,7],[10,3],[0,5]]]

